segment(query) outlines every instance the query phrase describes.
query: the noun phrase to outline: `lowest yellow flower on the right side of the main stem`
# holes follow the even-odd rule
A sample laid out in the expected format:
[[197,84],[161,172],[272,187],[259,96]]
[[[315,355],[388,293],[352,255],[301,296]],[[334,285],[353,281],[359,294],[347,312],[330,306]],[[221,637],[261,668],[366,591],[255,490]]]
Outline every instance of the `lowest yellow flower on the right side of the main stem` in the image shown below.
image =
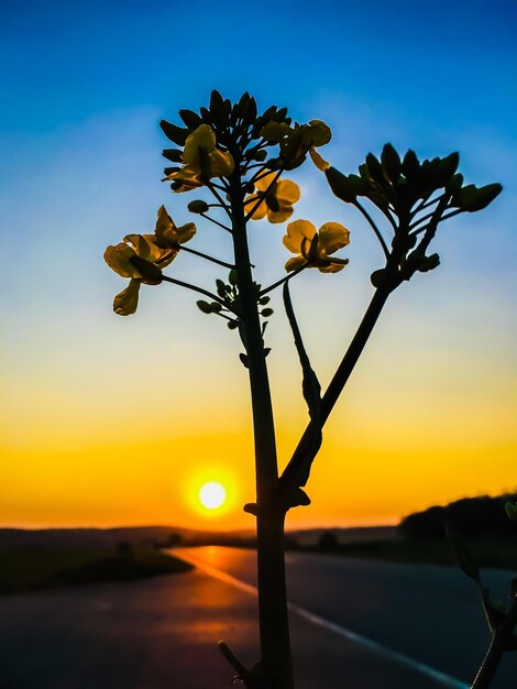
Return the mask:
[[330,254],[346,244],[350,244],[350,232],[339,222],[326,222],[316,231],[309,220],[295,220],[287,226],[284,245],[300,255],[289,259],[285,269],[290,272],[307,266],[317,267],[321,273],[338,273],[349,260],[330,258]]

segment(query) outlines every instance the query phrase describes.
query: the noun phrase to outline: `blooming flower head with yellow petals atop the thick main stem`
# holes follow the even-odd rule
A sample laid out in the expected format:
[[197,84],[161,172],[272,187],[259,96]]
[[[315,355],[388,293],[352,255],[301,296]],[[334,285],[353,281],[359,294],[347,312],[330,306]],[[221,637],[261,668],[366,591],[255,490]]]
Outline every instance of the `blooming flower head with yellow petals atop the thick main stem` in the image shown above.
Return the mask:
[[[288,221],[300,198],[300,189],[295,182],[282,178],[284,172],[295,169],[307,156],[319,169],[329,167],[317,152],[331,140],[330,128],[324,122],[293,122],[287,109],[276,106],[258,114],[255,100],[249,94],[232,103],[218,91],[212,91],[208,108],[201,108],[199,112],[180,110],[179,117],[183,127],[161,122],[163,132],[176,146],[163,152],[174,164],[165,168],[164,181],[170,183],[175,193],[202,188],[210,192],[215,203],[197,199],[188,204],[188,210],[231,233],[242,231],[235,226],[235,215],[244,218],[244,225],[261,219],[272,223]],[[235,204],[241,205],[237,214]],[[213,207],[227,214],[231,227],[210,216]],[[108,265],[122,277],[130,278],[129,286],[114,298],[117,314],[135,313],[140,286],[160,284],[162,269],[172,263],[182,244],[195,233],[193,222],[176,227],[162,206],[153,234],[128,234],[119,244],[108,247],[105,253]],[[349,231],[341,225],[327,222],[316,231],[308,220],[292,222],[284,244],[297,255],[287,261],[286,270],[298,272],[304,267],[318,267],[323,273],[338,272],[348,260],[331,254],[348,243]],[[189,251],[231,267],[199,251]],[[232,288],[238,289],[237,286]],[[197,291],[207,294],[204,289]],[[219,295],[218,298],[222,297]],[[218,313],[226,315],[222,302],[216,298],[208,304],[216,305],[210,306],[212,310],[220,307]]]

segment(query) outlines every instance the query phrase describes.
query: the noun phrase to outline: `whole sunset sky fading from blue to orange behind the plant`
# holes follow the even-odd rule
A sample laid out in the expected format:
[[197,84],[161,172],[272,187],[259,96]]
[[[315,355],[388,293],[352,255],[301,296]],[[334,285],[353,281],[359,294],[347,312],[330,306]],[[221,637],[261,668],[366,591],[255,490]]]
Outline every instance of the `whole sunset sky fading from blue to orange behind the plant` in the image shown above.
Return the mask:
[[[288,526],[396,523],[464,495],[517,488],[515,309],[517,9],[400,1],[0,3],[0,525],[177,524],[251,528],[246,372],[238,338],[173,285],[125,286],[107,244],[150,232],[164,204],[190,220],[194,196],[161,183],[158,121],[207,105],[212,88],[262,110],[287,106],[332,129],[324,156],[345,173],[391,141],[421,157],[459,151],[488,209],[436,241],[441,265],[395,293],[324,431]],[[344,223],[350,265],[306,271],[292,296],[314,368],[330,380],[382,266],[374,238],[309,164],[297,218]],[[252,223],[264,285],[284,275],[285,226]],[[231,260],[198,223],[191,248]],[[226,275],[180,255],[174,275]],[[170,272],[169,274],[173,274]],[[280,466],[307,423],[279,295],[267,346]],[[221,481],[228,501],[202,510]]]

